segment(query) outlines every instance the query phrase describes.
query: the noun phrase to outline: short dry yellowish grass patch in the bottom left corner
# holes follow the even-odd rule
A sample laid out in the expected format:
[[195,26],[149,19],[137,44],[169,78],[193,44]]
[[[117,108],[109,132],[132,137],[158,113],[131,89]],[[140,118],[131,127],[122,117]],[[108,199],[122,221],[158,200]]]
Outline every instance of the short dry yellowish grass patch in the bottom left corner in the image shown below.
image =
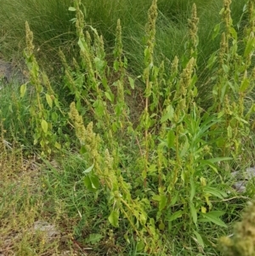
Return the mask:
[[[0,255],[86,255],[47,213],[38,159],[0,143]],[[68,245],[69,244],[69,245]]]

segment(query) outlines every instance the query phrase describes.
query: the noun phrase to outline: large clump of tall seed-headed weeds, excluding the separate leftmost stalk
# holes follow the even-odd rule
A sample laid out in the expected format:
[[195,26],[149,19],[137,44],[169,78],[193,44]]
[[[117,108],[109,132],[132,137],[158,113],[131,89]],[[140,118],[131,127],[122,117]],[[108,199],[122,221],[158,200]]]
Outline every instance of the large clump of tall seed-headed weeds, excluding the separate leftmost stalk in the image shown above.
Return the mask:
[[[142,76],[145,84],[144,111],[138,128],[134,130],[132,126],[127,125],[127,105],[122,105],[125,100],[123,82],[127,64],[123,65],[122,62],[120,23],[118,21],[114,50],[114,69],[120,72],[120,79],[112,82],[112,85],[117,86],[117,97],[122,100],[115,101],[110,96],[113,94],[111,84],[108,83],[107,70],[110,70],[111,66],[108,66],[104,59],[102,39],[91,26],[87,27],[93,31],[94,38],[88,36],[88,31],[86,37],[83,34],[82,28],[86,28],[86,24],[80,4],[75,2],[74,8],[77,12],[76,26],[81,55],[77,64],[80,65],[80,70],[86,71],[86,83],[82,85],[85,88],[86,84],[86,93],[78,92],[80,96],[76,99],[76,104],[71,104],[70,117],[78,139],[85,145],[88,162],[93,167],[88,168],[85,185],[89,191],[99,191],[100,183],[109,201],[111,213],[108,220],[111,225],[119,227],[120,219],[127,219],[130,225],[126,234],[127,241],[128,236],[135,231],[139,247],[144,252],[169,253],[161,249],[159,237],[162,231],[171,234],[173,226],[176,225],[180,231],[184,230],[191,237],[195,236],[199,246],[204,247],[201,231],[203,225],[209,222],[226,227],[220,219],[224,211],[212,210],[211,198],[223,200],[227,196],[218,188],[219,172],[224,166],[224,161],[237,161],[241,141],[250,134],[248,121],[253,110],[252,106],[248,111],[249,115],[244,114],[243,97],[246,89],[253,87],[252,77],[247,78],[251,61],[247,58],[246,51],[243,55],[237,55],[237,34],[229,21],[229,5],[225,4],[222,11],[226,31],[223,35],[226,36],[222,37],[221,50],[215,54],[217,58],[210,60],[213,61],[210,65],[218,67],[218,70],[214,71],[218,74],[219,82],[215,83],[212,91],[212,106],[207,112],[203,112],[195,103],[199,21],[195,5],[189,20],[190,37],[185,43],[185,54],[180,56],[180,59],[176,57],[173,60],[170,78],[166,80],[168,76],[164,62],[160,66],[156,66],[154,62],[157,9],[156,1],[153,1],[145,26]],[[227,41],[225,37],[228,38]],[[234,43],[230,44],[232,40]],[[252,51],[252,48],[250,50]],[[224,64],[225,56],[229,58],[227,64]],[[98,63],[104,65],[97,65]],[[241,63],[247,65],[240,65]],[[235,68],[230,68],[231,65]],[[236,73],[226,76],[229,68],[234,72],[238,71],[238,76]],[[243,85],[241,74],[245,74],[246,85]],[[235,87],[229,85],[230,79],[236,79]],[[229,88],[225,88],[226,85],[229,85]],[[216,88],[218,93],[215,93]],[[93,96],[89,98],[90,95]],[[88,128],[83,125],[82,117],[77,112],[86,112],[86,109],[82,108],[82,101],[89,106],[89,111],[93,111],[94,122],[100,135],[94,134],[91,123]],[[116,111],[120,108],[121,119]],[[106,129],[102,130],[103,123]],[[133,177],[129,176],[129,179],[119,168],[124,145],[122,136],[116,134],[116,131],[130,139],[134,135],[138,141],[138,146],[134,146],[133,150],[139,153],[133,156],[133,164],[127,168],[127,173],[133,172]],[[218,134],[221,136],[218,137]],[[136,192],[133,193],[133,190]],[[156,208],[151,207],[153,204]]]

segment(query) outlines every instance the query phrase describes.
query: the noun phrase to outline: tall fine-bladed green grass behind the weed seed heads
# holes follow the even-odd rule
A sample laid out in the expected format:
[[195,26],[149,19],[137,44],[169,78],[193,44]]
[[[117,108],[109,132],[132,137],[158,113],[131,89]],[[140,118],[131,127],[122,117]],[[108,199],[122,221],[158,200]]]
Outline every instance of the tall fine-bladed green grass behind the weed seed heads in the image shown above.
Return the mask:
[[[201,21],[198,31],[201,42],[198,46],[200,53],[198,65],[205,66],[210,55],[218,49],[220,38],[212,41],[211,37],[214,26],[220,22],[218,13],[222,8],[222,0],[178,1],[178,3],[161,0],[158,3],[157,26],[159,29],[157,30],[155,49],[157,64],[161,60],[173,60],[175,55],[180,56],[184,52],[187,20],[190,17],[193,3],[197,5]],[[245,3],[245,0],[233,1],[231,14],[234,24],[240,20]],[[4,51],[8,60],[22,58],[22,50],[25,48],[25,22],[28,21],[34,32],[38,61],[41,64],[43,62],[53,64],[44,67],[48,72],[59,72],[59,47],[63,48],[69,58],[72,58],[77,50],[76,32],[71,26],[69,6],[70,1],[55,1],[54,3],[44,1],[39,4],[34,1],[2,2],[1,8],[6,12],[0,15],[0,21],[3,24],[1,37],[4,39],[2,39],[1,47],[3,49],[0,49],[0,52],[3,54]],[[114,45],[116,21],[120,17],[122,18],[122,42],[129,61],[128,66],[135,75],[139,75],[142,71],[140,63],[143,62],[144,57],[144,25],[150,2],[100,0],[94,3],[94,1],[82,0],[82,6],[86,9],[86,22],[92,24],[104,36],[107,44],[106,51]],[[210,12],[207,11],[208,9]],[[17,13],[18,10],[19,13]],[[53,24],[54,26],[52,26]],[[198,75],[200,78],[198,83],[202,87],[207,82],[209,75],[202,69],[201,74]]]

